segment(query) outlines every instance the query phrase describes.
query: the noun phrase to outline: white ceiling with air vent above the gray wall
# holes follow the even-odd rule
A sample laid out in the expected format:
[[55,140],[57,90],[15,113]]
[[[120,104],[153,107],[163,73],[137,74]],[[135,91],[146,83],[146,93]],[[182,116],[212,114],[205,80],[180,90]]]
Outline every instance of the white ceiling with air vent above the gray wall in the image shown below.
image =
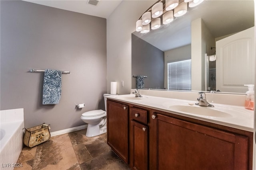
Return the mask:
[[[24,0],[36,4],[79,12],[91,16],[108,18],[122,0],[99,0],[96,6],[88,4],[88,0]],[[94,0],[96,1],[96,0]]]

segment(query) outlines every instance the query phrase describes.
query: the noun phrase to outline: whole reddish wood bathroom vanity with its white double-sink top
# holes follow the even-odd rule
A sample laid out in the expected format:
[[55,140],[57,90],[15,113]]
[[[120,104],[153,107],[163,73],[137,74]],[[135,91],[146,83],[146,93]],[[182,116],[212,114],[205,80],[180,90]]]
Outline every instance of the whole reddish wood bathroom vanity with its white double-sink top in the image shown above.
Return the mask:
[[243,121],[238,115],[214,117],[204,110],[202,115],[186,115],[171,107],[174,103],[182,106],[184,100],[133,97],[107,100],[108,145],[131,169],[252,169],[253,123],[236,126],[228,121],[234,117]]

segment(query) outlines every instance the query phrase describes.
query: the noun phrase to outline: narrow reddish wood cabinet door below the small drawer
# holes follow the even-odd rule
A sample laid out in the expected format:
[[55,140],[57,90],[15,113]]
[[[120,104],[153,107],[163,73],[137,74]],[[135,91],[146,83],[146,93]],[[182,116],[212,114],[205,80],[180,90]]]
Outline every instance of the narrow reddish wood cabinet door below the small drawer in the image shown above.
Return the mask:
[[131,121],[131,148],[132,169],[148,169],[148,127],[136,121]]

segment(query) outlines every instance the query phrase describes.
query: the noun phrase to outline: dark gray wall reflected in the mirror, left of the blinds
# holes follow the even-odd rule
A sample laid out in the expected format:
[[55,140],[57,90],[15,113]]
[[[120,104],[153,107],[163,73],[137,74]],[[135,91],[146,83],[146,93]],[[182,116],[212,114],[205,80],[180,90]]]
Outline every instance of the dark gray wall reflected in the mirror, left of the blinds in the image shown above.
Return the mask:
[[[132,34],[132,75],[145,75],[144,88],[164,89],[164,52]],[[136,78],[132,78],[136,88]]]

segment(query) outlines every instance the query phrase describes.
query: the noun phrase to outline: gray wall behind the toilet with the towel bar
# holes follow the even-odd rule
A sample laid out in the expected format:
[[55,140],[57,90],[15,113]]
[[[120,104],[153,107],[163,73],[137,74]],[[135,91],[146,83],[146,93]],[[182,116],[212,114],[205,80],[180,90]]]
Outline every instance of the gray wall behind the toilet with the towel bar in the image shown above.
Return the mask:
[[[0,109],[24,108],[25,127],[51,124],[51,131],[84,125],[80,116],[104,109],[106,19],[24,1],[0,1]],[[62,74],[57,105],[42,105],[43,72]],[[75,104],[85,103],[83,109]]]

